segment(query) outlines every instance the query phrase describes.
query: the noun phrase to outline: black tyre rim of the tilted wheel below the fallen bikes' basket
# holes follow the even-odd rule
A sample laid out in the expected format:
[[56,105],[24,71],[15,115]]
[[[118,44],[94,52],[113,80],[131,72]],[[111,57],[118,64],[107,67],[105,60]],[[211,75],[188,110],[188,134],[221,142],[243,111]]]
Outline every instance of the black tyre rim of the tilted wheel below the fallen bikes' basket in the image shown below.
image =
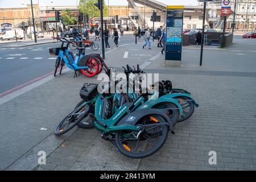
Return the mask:
[[[75,127],[80,121],[82,121],[82,119],[84,119],[90,110],[90,105],[86,105],[87,107],[84,107],[84,112],[85,114],[81,114],[78,118],[74,118],[75,121],[70,121],[68,123],[66,123],[65,125],[68,124],[68,127],[63,129],[61,126],[64,124],[64,122],[69,118],[69,117],[73,117],[73,115],[77,115],[78,112],[80,112],[81,110],[83,110],[82,108],[79,109],[75,109],[74,111],[72,111],[72,113],[68,114],[67,117],[65,117],[56,127],[54,134],[57,136],[63,135],[65,133],[67,133],[69,130],[71,130],[73,127]],[[73,119],[73,118],[72,118]],[[64,125],[64,126],[65,126]]]

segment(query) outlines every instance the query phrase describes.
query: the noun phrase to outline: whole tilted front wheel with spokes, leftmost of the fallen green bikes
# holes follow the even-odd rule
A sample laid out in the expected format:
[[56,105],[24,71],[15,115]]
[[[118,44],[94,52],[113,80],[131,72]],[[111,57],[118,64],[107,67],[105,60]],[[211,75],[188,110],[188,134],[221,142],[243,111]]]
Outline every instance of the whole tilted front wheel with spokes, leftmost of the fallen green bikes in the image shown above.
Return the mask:
[[75,127],[80,121],[82,121],[82,119],[87,117],[89,110],[89,105],[75,109],[72,113],[65,117],[63,121],[59,123],[59,125],[57,125],[55,135],[59,136],[63,135],[64,133],[67,133],[69,130]]

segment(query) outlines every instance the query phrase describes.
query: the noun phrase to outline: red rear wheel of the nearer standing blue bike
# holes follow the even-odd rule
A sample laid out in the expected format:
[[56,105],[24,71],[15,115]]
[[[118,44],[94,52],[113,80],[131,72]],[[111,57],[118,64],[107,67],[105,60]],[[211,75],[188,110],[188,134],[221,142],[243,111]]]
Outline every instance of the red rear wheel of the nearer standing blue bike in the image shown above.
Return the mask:
[[93,76],[97,75],[98,69],[99,69],[97,59],[95,59],[94,57],[91,57],[87,61],[86,66],[88,66],[89,68],[88,69],[81,69],[82,75],[87,76],[87,77],[93,77]]

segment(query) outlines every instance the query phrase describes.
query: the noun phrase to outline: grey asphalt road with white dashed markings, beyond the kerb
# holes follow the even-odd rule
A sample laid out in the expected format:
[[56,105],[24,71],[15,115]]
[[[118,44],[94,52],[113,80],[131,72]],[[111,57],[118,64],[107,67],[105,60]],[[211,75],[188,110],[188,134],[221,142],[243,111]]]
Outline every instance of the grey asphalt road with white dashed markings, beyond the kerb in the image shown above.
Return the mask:
[[[41,39],[46,40],[46,39]],[[39,40],[40,42],[40,40]],[[119,45],[134,43],[135,39],[132,35],[124,36]],[[48,48],[58,47],[60,43],[42,44],[38,46],[20,47],[20,48],[3,48],[11,44],[19,44],[22,42],[12,42],[0,44],[0,96],[1,93],[26,84],[35,78],[45,76],[54,71],[56,57],[49,55]],[[101,53],[101,41],[96,41],[100,49],[93,51],[86,48],[86,53]],[[114,48],[113,39],[109,39],[110,48]],[[106,49],[105,51],[109,51]],[[75,51],[76,52],[76,51]]]

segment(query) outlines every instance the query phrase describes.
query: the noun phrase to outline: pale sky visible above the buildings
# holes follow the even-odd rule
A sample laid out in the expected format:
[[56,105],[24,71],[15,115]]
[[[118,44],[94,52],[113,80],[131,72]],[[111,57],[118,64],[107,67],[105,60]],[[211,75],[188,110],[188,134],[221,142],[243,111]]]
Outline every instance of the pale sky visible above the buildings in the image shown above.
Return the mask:
[[[37,4],[39,2],[40,6],[76,6],[76,2],[79,0],[33,0],[33,3]],[[105,0],[108,3],[108,0]],[[198,5],[197,0],[156,0],[166,5]],[[51,3],[53,2],[53,3]],[[7,8],[7,7],[24,7],[22,4],[29,4],[30,0],[0,0],[0,9]],[[127,5],[126,0],[109,0],[109,5]]]

